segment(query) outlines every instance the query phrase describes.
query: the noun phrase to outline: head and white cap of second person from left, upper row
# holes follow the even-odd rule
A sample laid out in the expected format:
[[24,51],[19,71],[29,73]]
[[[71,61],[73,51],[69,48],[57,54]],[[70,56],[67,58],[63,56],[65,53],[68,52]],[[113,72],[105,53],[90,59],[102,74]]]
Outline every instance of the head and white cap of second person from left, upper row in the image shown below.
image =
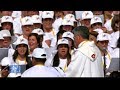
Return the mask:
[[20,37],[24,37],[25,39],[28,39],[29,34],[33,30],[32,18],[30,16],[23,17],[21,19],[21,24],[22,24],[23,35],[21,35]]

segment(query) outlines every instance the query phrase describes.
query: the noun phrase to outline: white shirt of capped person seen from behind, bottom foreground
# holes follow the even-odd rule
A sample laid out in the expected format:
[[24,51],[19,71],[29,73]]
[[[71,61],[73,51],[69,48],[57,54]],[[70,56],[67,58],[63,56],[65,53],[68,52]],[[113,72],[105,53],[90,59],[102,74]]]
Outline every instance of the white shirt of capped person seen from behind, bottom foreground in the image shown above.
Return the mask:
[[51,67],[35,65],[26,70],[21,77],[60,77],[60,73]]

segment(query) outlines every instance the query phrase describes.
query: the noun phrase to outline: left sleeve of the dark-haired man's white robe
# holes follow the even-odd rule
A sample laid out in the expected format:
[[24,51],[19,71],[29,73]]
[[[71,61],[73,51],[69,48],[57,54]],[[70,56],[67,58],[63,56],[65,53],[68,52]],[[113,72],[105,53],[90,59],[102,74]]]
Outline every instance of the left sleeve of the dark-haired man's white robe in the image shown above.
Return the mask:
[[[77,53],[77,54],[76,54]],[[86,58],[81,52],[76,52],[66,70],[67,77],[80,77],[82,75]]]

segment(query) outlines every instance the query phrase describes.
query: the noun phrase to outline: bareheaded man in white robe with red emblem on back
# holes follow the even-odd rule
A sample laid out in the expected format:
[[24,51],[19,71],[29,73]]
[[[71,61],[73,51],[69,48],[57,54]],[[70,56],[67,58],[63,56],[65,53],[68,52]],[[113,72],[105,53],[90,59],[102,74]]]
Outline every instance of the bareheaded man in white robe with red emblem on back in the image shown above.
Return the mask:
[[73,30],[76,50],[66,70],[66,77],[104,77],[102,56],[94,42],[89,41],[89,29],[78,26]]

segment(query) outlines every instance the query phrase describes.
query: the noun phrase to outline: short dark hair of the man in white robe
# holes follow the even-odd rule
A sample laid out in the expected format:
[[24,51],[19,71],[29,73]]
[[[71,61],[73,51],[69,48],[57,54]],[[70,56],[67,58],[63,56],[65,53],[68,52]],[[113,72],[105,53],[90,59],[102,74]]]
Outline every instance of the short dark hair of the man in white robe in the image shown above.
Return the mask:
[[89,40],[89,29],[86,26],[78,26],[72,32],[74,35],[80,35],[82,38]]

